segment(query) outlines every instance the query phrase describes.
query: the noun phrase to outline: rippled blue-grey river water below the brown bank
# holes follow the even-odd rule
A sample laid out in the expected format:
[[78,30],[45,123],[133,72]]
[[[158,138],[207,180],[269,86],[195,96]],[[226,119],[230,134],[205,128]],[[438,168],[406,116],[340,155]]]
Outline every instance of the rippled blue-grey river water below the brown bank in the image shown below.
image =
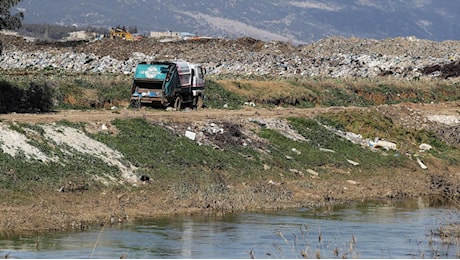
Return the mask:
[[442,243],[433,233],[459,222],[458,210],[428,198],[315,210],[174,216],[83,232],[0,237],[0,256],[456,258],[458,242]]

